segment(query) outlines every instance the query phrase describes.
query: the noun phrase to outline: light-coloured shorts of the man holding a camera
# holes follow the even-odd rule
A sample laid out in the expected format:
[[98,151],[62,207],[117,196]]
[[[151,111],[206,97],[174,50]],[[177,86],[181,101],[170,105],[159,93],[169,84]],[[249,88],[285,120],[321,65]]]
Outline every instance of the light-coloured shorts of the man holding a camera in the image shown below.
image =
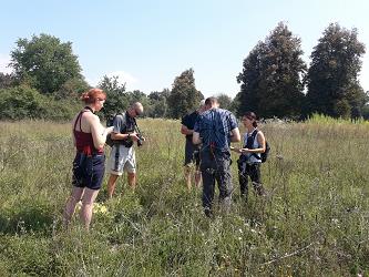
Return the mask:
[[136,158],[134,147],[125,147],[122,144],[115,144],[110,154],[110,173],[122,175],[123,172],[136,172]]

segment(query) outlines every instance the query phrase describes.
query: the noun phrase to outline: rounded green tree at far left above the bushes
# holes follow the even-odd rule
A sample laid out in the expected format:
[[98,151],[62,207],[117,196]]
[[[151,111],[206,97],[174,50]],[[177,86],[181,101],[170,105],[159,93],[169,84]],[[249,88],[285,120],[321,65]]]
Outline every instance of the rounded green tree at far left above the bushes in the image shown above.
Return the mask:
[[53,93],[71,79],[82,79],[81,66],[72,53],[72,43],[41,33],[31,40],[19,39],[11,63],[21,83],[41,93]]

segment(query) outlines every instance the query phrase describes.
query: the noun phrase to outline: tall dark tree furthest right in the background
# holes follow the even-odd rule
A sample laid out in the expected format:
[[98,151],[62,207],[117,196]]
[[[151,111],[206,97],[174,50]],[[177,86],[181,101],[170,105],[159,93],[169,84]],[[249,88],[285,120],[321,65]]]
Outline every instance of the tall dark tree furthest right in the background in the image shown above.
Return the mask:
[[363,43],[357,30],[347,30],[331,23],[314,48],[307,74],[309,113],[334,117],[361,115],[366,95],[358,81]]

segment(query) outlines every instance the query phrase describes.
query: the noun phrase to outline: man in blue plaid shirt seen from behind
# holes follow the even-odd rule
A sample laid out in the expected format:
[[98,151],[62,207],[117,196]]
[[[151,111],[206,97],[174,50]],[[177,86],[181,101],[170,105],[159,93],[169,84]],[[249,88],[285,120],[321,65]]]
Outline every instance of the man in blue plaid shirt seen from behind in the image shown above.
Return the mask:
[[202,143],[201,172],[203,176],[203,207],[212,216],[215,181],[219,188],[219,202],[228,209],[232,199],[230,142],[239,142],[236,117],[227,110],[219,109],[216,98],[205,100],[206,111],[195,123],[193,142]]

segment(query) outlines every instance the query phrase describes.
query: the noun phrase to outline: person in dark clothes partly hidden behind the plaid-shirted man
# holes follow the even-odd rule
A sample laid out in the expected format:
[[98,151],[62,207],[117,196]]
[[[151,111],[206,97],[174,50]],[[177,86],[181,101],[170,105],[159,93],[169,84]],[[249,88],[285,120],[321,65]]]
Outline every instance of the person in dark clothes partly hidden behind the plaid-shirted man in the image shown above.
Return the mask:
[[192,142],[192,136],[194,133],[194,126],[195,122],[197,120],[197,116],[204,112],[205,109],[205,100],[202,100],[199,102],[199,106],[196,111],[194,111],[191,114],[186,114],[182,119],[182,126],[181,126],[181,133],[186,136],[186,145],[185,145],[185,163],[184,163],[184,174],[185,179],[187,184],[188,191],[191,191],[192,187],[192,166],[195,163],[195,186],[199,187],[199,184],[202,182],[202,173],[199,171],[199,145],[195,145]]

